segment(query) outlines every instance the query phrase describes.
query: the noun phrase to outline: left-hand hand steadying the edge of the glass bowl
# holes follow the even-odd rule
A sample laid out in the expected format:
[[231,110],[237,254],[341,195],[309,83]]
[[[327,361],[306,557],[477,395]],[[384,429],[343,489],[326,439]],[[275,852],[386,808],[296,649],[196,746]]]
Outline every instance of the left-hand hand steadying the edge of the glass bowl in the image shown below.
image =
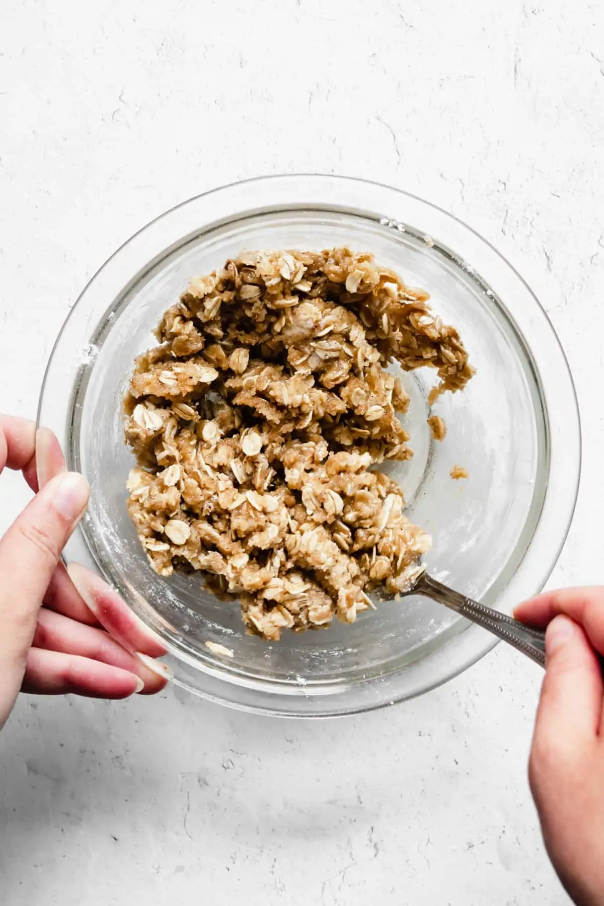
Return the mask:
[[163,689],[170,671],[156,636],[102,580],[62,548],[90,488],[65,472],[47,429],[0,416],[0,473],[19,469],[34,499],[0,539],[0,729],[25,692],[124,699]]

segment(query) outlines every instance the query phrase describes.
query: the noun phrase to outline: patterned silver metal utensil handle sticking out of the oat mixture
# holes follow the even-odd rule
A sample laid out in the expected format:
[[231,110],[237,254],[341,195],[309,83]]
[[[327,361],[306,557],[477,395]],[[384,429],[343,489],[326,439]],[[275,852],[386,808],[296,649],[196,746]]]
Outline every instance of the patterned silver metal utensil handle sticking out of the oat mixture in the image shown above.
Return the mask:
[[517,651],[522,651],[527,657],[545,667],[545,632],[532,629],[524,623],[506,616],[505,613],[494,611],[466,598],[459,592],[447,588],[443,583],[437,582],[427,573],[422,573],[413,589],[414,594],[425,594],[440,604],[445,604],[452,611],[461,613],[467,620],[475,622],[478,626],[493,632],[498,638],[507,641]]

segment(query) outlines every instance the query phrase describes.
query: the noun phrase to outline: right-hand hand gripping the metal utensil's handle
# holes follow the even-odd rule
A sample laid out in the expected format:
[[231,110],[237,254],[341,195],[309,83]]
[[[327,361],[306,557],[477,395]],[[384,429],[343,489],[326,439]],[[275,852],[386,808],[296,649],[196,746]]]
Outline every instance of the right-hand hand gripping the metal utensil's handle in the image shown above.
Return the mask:
[[[529,762],[543,840],[578,906],[604,903],[604,587],[569,588],[520,604],[547,627],[546,670]],[[597,653],[598,652],[598,653]]]

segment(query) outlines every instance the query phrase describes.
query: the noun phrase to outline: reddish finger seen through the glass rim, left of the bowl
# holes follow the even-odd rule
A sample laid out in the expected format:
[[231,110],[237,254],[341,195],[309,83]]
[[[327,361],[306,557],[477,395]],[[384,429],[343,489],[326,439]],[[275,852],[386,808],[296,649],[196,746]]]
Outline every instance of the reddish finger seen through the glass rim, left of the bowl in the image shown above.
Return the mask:
[[139,620],[128,604],[100,576],[91,573],[81,564],[69,564],[67,572],[97,620],[127,651],[137,651],[151,658],[160,658],[166,654],[166,647],[155,632]]

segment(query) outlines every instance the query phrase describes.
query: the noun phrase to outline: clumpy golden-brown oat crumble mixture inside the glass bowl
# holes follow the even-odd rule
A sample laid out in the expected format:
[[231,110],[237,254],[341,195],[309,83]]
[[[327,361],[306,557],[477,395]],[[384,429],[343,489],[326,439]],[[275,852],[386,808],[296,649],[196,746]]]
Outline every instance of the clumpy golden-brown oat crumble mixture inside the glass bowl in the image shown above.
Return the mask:
[[129,515],[153,569],[200,571],[270,640],[405,591],[430,538],[369,471],[412,456],[385,368],[435,369],[431,401],[474,373],[427,299],[347,248],[245,253],[192,280],[126,400]]

